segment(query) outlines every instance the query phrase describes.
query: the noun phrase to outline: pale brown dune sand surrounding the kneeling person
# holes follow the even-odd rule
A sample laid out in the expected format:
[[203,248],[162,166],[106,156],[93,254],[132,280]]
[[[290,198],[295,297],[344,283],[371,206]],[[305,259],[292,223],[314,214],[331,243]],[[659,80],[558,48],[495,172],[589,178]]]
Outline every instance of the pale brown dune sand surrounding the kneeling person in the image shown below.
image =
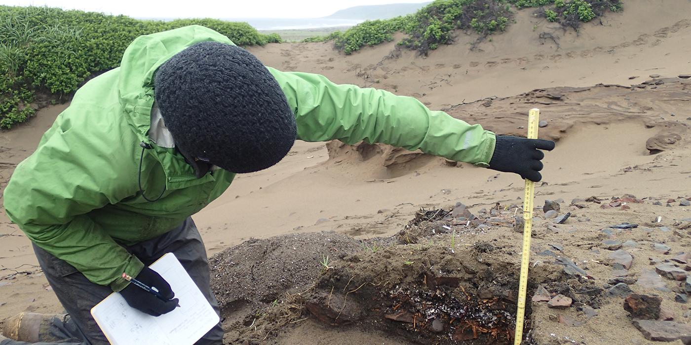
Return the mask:
[[[668,198],[676,200],[666,208],[647,199],[644,204],[631,204],[630,210],[601,210],[589,204],[571,211],[576,217],[561,233],[549,232],[546,220],[536,224],[542,238],[534,240],[534,259],[542,260],[534,253],[558,243],[574,261],[606,261],[606,250],[594,255],[589,247],[598,246],[603,240],[598,237],[600,229],[610,223],[644,224],[660,215],[662,225],[675,230],[674,219],[691,217],[691,208],[677,206],[681,200],[677,197],[691,197],[691,79],[676,78],[691,74],[691,46],[686,43],[691,39],[690,10],[688,1],[626,1],[623,12],[587,23],[578,34],[563,32],[524,10],[506,33],[491,41],[473,46],[477,37],[459,32],[453,45],[428,57],[397,50],[394,43],[363,48],[350,56],[339,54],[329,43],[269,44],[249,50],[268,66],[318,72],[338,83],[417,97],[432,109],[447,110],[500,134],[523,134],[527,110],[540,108],[549,124],[540,129],[540,136],[558,139],[558,144],[545,158],[546,184],[538,185],[536,205],[561,198],[565,210],[576,197],[609,199],[627,193],[661,198],[663,204]],[[548,34],[558,37],[558,44],[545,39]],[[655,85],[655,80],[663,83]],[[45,108],[28,124],[0,132],[0,188],[66,106]],[[665,133],[677,134],[681,141],[651,155],[646,143]],[[356,239],[388,237],[404,228],[420,207],[460,201],[477,213],[496,202],[520,204],[522,181],[514,175],[468,164],[451,167],[443,159],[406,155],[386,146],[366,151],[370,153],[363,156],[338,144],[330,144],[328,151],[323,143],[297,142],[280,164],[239,176],[224,195],[194,216],[209,256],[252,237],[322,230]],[[591,221],[578,221],[586,218]],[[688,233],[676,233],[618,233],[616,239],[622,242],[645,242],[634,250],[632,275],[652,267],[647,265],[648,257],[670,258],[652,250],[652,242],[667,244],[672,254],[688,251]],[[491,239],[520,252],[516,247],[520,234],[509,226],[468,234],[464,242]],[[20,311],[61,311],[35,265],[28,239],[0,213],[0,319]],[[587,267],[600,286],[612,278],[608,266]],[[674,302],[674,293],[661,295],[675,320],[688,323],[683,317],[688,307]],[[619,339],[645,344],[647,340],[632,326],[617,298],[607,298],[600,315],[580,327],[554,321],[560,314],[574,316],[575,309],[536,308],[536,339],[542,339],[538,343],[561,344],[568,337],[581,344],[617,344]],[[552,333],[555,339],[550,338]],[[347,339],[348,343],[373,344],[386,342],[386,336],[371,329],[334,330],[307,319],[272,342],[345,344],[343,339]]]

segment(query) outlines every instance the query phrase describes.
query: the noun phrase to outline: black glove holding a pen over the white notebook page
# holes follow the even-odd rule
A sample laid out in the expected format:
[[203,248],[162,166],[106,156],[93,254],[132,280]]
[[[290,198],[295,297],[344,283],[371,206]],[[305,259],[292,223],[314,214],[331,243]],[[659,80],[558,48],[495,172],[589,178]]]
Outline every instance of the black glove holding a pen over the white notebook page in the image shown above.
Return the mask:
[[170,299],[168,302],[162,301],[160,298],[149,293],[148,291],[136,286],[133,283],[128,284],[120,291],[120,295],[124,297],[127,304],[132,308],[138,309],[146,314],[152,316],[160,316],[165,313],[170,313],[173,309],[178,306],[178,299],[171,299],[175,297],[170,284],[163,279],[161,275],[152,270],[151,268],[144,267],[142,272],[140,272],[137,277],[138,281],[146,284],[151,288],[156,288],[158,292],[166,299]]

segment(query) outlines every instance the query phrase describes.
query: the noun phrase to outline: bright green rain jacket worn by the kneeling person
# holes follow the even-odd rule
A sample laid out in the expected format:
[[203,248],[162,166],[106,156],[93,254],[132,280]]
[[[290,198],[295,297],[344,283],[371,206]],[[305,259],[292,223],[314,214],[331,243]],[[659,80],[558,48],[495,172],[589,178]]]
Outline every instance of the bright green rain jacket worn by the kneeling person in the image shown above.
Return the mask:
[[[68,262],[93,283],[122,290],[122,273],[136,276],[140,260],[120,244],[152,239],[178,226],[219,197],[234,173],[217,169],[196,178],[154,119],[153,74],[176,53],[200,41],[234,44],[223,34],[187,26],[138,37],[120,68],[80,88],[36,151],[17,166],[5,193],[10,219],[37,246]],[[487,166],[495,135],[481,126],[411,97],[337,85],[321,75],[268,68],[285,92],[304,141],[338,139],[420,149]],[[158,112],[160,115],[160,112]],[[153,128],[153,127],[155,128]],[[159,139],[158,141],[165,141]],[[141,160],[140,143],[151,144]]]

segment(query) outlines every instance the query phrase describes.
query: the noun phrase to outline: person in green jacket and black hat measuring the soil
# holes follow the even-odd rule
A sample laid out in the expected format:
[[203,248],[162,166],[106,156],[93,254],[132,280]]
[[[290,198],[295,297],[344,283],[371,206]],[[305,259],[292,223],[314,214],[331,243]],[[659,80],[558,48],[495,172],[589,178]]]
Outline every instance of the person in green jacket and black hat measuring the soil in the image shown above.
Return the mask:
[[[412,97],[263,66],[202,26],[138,37],[119,68],[76,92],[5,190],[8,216],[31,239],[66,311],[21,315],[10,333],[45,344],[108,344],[90,310],[113,291],[149,315],[172,311],[175,291],[147,267],[165,253],[178,257],[218,313],[190,216],[236,174],[278,163],[296,139],[419,149],[533,181],[541,179],[541,150],[554,147],[495,135]],[[157,299],[122,273],[172,299]],[[218,324],[197,344],[222,338]],[[26,343],[0,342],[19,344]]]

